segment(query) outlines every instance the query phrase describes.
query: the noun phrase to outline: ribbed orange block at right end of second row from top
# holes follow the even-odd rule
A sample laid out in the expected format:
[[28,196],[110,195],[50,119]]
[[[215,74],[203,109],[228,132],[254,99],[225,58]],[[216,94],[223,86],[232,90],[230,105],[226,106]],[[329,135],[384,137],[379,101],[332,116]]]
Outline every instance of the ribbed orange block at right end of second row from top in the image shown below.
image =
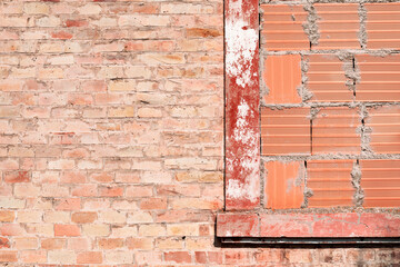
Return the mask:
[[[400,7],[400,6],[399,6]],[[358,101],[400,101],[400,55],[387,57],[357,55],[360,81],[356,88]]]

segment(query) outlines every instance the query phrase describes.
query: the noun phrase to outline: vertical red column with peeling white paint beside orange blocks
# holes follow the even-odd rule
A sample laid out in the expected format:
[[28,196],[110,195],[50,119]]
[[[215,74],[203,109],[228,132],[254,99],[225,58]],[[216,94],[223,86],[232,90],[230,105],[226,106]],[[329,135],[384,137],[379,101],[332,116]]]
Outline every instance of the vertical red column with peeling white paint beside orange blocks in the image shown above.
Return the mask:
[[259,2],[226,0],[226,209],[260,205]]

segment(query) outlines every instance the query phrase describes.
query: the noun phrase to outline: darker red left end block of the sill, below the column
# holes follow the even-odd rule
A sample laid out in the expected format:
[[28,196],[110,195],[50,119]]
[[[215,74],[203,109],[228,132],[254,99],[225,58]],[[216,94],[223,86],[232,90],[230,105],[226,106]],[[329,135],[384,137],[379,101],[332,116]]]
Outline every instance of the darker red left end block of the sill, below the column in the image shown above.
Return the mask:
[[257,215],[220,214],[217,224],[217,236],[241,237],[259,235],[259,218]]

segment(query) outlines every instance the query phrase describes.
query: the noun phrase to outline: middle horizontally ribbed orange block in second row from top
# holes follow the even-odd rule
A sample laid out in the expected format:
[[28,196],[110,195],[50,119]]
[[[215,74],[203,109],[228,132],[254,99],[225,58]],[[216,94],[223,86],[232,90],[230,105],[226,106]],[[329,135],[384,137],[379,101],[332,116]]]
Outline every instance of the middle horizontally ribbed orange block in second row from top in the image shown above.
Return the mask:
[[346,86],[343,62],[332,55],[310,55],[308,60],[307,89],[312,102],[350,102],[353,92]]

